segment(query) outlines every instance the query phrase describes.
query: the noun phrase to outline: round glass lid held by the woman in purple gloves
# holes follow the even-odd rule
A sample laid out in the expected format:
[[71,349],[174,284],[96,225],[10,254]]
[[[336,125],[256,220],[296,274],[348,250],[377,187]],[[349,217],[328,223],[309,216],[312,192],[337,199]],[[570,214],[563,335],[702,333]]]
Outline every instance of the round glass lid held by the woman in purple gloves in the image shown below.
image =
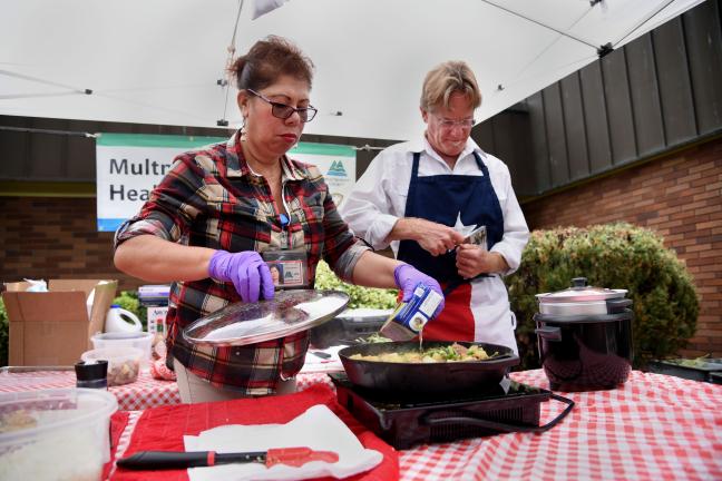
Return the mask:
[[271,301],[235,303],[201,317],[183,330],[183,336],[211,346],[255,344],[323,324],[347,304],[349,295],[340,291],[281,291]]

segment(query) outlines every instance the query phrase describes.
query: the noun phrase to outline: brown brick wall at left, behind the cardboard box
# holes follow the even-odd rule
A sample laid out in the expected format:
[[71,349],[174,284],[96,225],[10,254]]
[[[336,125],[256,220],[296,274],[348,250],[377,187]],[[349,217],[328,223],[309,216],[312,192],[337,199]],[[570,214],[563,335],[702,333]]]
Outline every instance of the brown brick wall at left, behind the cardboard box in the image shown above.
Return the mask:
[[114,278],[145,284],[113,265],[113,234],[96,232],[95,198],[0,197],[0,282]]

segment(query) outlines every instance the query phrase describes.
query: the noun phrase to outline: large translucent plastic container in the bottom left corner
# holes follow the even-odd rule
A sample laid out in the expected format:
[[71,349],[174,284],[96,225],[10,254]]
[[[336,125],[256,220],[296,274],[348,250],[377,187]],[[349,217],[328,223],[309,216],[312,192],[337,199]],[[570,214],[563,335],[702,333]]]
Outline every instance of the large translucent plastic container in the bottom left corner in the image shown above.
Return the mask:
[[0,394],[0,479],[100,480],[117,409],[100,390]]

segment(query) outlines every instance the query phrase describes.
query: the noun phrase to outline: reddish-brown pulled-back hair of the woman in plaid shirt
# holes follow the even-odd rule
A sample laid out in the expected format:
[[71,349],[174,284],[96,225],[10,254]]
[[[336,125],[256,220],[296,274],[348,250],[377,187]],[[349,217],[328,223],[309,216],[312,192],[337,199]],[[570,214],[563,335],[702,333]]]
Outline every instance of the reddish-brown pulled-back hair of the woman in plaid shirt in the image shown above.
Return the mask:
[[258,40],[231,67],[238,90],[261,90],[274,84],[281,76],[305,80],[311,88],[313,62],[299,47],[276,36]]

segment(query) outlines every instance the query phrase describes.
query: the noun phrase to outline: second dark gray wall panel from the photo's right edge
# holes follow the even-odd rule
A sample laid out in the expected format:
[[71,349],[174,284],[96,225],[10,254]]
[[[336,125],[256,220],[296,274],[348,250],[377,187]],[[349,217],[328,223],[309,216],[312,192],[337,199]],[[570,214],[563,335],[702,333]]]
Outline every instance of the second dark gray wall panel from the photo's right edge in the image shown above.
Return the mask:
[[679,144],[696,136],[694,101],[680,18],[652,32],[657,65],[664,132],[667,144]]

